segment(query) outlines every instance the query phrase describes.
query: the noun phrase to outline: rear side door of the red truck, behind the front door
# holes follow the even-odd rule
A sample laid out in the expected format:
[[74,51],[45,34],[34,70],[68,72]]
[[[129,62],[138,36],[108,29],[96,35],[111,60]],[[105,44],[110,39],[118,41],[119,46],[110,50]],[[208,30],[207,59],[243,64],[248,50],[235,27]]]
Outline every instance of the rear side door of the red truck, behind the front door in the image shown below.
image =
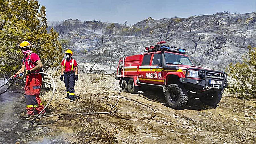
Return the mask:
[[138,77],[141,83],[148,83],[147,73],[149,72],[149,65],[152,54],[144,55],[141,65],[138,70]]

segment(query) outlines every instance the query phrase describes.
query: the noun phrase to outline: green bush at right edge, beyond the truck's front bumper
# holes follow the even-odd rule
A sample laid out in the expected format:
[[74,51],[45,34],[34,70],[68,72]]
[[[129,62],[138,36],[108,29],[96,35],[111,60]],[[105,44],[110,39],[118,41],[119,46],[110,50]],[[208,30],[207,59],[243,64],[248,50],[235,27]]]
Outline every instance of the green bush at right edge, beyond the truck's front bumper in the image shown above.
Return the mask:
[[243,55],[242,63],[229,64],[226,71],[234,80],[229,91],[238,93],[242,98],[256,98],[256,47],[248,46],[247,54]]

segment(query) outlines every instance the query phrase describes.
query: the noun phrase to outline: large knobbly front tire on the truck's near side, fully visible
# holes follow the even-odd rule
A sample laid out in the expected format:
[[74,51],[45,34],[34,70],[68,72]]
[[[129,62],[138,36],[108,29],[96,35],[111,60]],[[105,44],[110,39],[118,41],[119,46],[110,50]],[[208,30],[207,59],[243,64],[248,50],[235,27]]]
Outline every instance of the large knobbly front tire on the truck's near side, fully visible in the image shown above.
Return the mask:
[[[170,96],[170,93],[174,93],[176,96]],[[188,97],[187,91],[182,85],[178,84],[170,84],[166,87],[166,91],[164,93],[166,103],[174,109],[179,109],[187,105]],[[174,100],[176,99],[176,100]]]

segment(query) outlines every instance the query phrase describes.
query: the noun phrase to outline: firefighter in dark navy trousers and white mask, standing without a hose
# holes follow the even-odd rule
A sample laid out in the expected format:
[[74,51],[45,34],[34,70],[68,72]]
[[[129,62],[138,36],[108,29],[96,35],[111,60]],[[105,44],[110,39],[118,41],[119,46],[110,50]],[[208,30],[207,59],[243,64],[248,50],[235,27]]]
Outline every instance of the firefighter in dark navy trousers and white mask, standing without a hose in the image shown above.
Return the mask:
[[63,81],[64,76],[64,83],[67,91],[67,97],[64,99],[70,99],[70,102],[73,102],[75,100],[75,80],[78,80],[77,62],[72,58],[73,52],[70,49],[68,49],[65,54],[67,58],[62,60],[61,63],[60,80]]

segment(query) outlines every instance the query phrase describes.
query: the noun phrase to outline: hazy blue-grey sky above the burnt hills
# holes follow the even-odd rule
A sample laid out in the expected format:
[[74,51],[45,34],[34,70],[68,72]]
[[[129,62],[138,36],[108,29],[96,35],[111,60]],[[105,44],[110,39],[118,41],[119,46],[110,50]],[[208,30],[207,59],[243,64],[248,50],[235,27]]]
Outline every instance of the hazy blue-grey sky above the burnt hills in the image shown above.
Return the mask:
[[65,19],[101,20],[135,24],[153,19],[189,17],[229,11],[256,12],[256,0],[38,0],[46,6],[48,21]]

